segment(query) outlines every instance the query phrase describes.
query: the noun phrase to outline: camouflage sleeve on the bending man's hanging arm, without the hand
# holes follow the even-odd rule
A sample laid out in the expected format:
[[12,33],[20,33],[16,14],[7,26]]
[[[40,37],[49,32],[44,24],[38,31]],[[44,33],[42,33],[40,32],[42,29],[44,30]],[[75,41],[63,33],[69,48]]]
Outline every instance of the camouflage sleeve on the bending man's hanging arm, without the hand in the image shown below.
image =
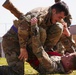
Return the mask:
[[18,27],[18,37],[20,48],[25,48],[29,36],[29,24],[26,20],[22,21]]

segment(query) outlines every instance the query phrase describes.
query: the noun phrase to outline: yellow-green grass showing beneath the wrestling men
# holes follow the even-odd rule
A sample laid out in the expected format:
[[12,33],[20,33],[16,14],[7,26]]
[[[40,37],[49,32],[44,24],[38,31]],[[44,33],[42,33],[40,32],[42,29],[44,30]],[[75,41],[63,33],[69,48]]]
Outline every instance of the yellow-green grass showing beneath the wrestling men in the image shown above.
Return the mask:
[[[0,66],[8,65],[5,58],[0,58]],[[36,70],[34,70],[28,63],[25,62],[25,75],[39,75]],[[61,75],[61,74],[48,74],[48,75]],[[71,74],[63,74],[63,75],[76,75],[76,71]]]

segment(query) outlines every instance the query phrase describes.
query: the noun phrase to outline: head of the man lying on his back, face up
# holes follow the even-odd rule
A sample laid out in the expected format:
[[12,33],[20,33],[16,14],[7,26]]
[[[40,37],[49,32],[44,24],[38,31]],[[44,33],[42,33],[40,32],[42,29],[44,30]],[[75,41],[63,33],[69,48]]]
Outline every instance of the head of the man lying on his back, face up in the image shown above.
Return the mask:
[[66,71],[76,70],[76,52],[62,56],[61,60]]

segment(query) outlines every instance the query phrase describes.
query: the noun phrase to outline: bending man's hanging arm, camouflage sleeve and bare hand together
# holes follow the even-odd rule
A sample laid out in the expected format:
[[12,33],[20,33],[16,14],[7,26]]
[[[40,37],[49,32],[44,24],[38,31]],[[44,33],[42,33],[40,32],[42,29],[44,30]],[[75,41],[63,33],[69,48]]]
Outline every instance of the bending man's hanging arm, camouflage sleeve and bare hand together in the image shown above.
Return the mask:
[[18,38],[20,44],[19,59],[28,59],[28,53],[26,50],[26,44],[29,36],[29,24],[26,20],[22,21],[18,27]]

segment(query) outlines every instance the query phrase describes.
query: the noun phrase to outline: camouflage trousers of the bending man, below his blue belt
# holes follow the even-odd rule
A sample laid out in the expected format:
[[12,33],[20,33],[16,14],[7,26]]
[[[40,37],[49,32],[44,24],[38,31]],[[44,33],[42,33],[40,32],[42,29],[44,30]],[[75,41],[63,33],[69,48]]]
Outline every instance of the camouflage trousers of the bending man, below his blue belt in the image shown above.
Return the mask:
[[18,75],[24,75],[24,62],[18,59],[20,54],[18,37],[12,29],[3,36],[2,46],[8,66]]

